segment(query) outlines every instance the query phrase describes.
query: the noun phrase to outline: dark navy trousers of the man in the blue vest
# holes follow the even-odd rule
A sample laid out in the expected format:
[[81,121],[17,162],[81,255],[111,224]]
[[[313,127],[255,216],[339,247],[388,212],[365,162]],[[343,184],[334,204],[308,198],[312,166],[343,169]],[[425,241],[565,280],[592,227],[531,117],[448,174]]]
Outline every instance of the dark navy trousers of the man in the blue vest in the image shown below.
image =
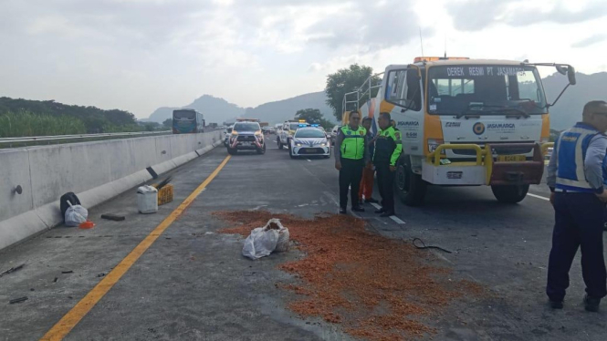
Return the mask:
[[604,210],[605,204],[593,193],[556,193],[546,286],[546,294],[551,300],[561,301],[565,297],[571,263],[580,247],[581,274],[586,293],[597,298],[607,294],[607,274],[602,253]]

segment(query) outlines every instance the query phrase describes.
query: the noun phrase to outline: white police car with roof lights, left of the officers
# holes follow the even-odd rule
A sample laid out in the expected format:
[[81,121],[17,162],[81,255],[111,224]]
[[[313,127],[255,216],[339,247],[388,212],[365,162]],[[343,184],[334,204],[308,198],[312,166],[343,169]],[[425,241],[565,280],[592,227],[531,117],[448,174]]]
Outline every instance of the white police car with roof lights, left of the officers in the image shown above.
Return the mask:
[[318,124],[310,127],[303,126],[295,131],[293,138],[290,139],[290,148],[288,155],[291,159],[300,156],[323,156],[329,159],[331,156],[330,141],[327,135]]

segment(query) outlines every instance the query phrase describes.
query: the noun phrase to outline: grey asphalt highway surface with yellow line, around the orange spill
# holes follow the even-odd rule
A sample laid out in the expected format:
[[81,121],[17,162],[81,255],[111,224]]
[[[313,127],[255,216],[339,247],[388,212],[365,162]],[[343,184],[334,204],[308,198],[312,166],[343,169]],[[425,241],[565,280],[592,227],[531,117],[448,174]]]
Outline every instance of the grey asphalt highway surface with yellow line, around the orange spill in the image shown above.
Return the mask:
[[[59,227],[1,251],[0,272],[26,266],[0,277],[0,340],[351,339],[340,325],[309,323],[286,307],[292,294],[274,284],[292,276],[277,265],[301,254],[247,260],[240,254],[242,238],[216,233],[229,223],[212,215],[226,210],[303,217],[335,213],[332,159],[290,160],[287,150],[270,141],[265,155],[228,158],[217,148],[171,174],[175,199],[156,214],[137,213],[133,190],[90,210],[97,223],[92,230]],[[190,196],[196,190],[198,196]],[[403,243],[418,237],[453,251],[419,253],[433,253],[441,266],[452,269],[453,278],[487,287],[490,294],[475,304],[455,300],[429,321],[436,328],[434,339],[604,338],[606,313],[586,313],[581,305],[579,257],[565,309],[552,311],[547,305],[553,212],[544,186],[530,193],[517,205],[505,205],[487,187],[433,187],[424,207],[397,203],[398,219],[377,218],[371,205],[360,214],[372,233]],[[191,204],[185,208],[184,201]],[[182,209],[180,216],[175,213]],[[105,212],[127,219],[102,221],[99,215]],[[21,296],[28,300],[8,305]]]

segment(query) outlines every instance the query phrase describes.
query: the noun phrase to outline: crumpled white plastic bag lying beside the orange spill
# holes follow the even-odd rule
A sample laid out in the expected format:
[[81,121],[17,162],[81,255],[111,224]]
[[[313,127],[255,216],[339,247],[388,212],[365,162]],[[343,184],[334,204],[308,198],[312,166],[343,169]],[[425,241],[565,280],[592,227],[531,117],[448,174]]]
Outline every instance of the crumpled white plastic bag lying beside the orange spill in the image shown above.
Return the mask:
[[246,237],[243,255],[250,259],[258,259],[276,251],[288,251],[288,229],[278,219],[270,219],[266,226],[257,227]]

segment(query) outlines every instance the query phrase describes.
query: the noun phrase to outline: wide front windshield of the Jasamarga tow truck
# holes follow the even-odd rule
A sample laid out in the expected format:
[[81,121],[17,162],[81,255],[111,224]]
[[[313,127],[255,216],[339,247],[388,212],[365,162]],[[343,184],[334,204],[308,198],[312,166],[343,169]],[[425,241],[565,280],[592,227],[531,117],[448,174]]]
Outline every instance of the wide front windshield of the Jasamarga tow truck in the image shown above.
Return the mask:
[[430,114],[526,117],[546,113],[546,98],[535,67],[430,67],[428,79]]

